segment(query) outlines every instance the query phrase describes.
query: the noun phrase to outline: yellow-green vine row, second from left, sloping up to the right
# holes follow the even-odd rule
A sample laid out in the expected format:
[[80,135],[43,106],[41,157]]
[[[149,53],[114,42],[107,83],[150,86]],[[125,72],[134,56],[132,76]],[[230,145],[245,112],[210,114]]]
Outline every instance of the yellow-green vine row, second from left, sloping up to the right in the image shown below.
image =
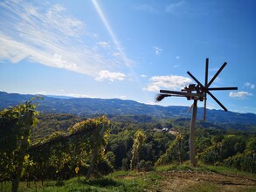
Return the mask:
[[109,124],[105,116],[83,120],[68,128],[69,133],[55,132],[39,141],[30,149],[32,173],[42,181],[80,177],[89,170],[95,176],[110,173],[113,166],[105,156]]

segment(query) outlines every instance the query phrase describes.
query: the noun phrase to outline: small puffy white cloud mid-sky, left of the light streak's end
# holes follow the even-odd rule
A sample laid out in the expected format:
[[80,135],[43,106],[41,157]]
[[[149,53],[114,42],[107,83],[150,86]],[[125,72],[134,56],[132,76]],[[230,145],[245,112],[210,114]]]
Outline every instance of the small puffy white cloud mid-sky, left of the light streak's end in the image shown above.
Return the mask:
[[121,72],[109,72],[107,70],[102,70],[98,73],[98,76],[95,78],[97,81],[109,80],[114,82],[115,80],[123,80],[126,75]]

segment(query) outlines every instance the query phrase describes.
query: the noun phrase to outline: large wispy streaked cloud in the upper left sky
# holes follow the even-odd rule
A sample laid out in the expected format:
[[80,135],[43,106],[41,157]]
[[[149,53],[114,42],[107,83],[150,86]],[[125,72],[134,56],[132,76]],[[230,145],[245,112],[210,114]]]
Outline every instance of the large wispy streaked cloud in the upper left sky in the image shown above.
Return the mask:
[[120,71],[126,67],[122,54],[117,54],[120,47],[99,41],[63,6],[34,4],[19,0],[0,3],[0,60],[18,63],[28,59],[93,77],[102,70]]

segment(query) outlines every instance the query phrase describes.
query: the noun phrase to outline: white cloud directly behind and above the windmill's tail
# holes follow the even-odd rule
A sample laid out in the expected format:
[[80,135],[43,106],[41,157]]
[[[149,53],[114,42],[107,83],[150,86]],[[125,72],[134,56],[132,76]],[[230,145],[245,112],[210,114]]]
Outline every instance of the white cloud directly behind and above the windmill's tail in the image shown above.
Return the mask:
[[184,86],[191,83],[191,79],[183,76],[155,76],[149,79],[151,83],[143,90],[149,92],[159,91],[161,88],[167,88],[171,90],[181,90]]

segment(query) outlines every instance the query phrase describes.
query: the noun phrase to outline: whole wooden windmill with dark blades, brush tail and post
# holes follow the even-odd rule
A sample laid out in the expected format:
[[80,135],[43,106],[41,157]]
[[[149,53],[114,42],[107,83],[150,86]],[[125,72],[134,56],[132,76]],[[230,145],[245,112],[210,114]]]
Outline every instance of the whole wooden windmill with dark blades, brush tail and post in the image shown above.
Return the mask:
[[238,87],[212,87],[212,88],[210,88],[211,84],[218,77],[218,74],[224,69],[226,64],[227,63],[225,62],[218,69],[218,72],[216,72],[216,74],[213,76],[213,78],[210,80],[210,82],[208,82],[209,58],[206,58],[204,86],[190,72],[187,72],[190,75],[190,77],[197,82],[197,84],[190,84],[189,86],[184,87],[181,90],[181,92],[160,90],[161,94],[159,94],[156,97],[156,101],[161,101],[165,97],[185,97],[188,100],[190,100],[190,99],[194,100],[193,105],[190,107],[190,109],[193,107],[192,119],[191,119],[191,122],[190,122],[190,163],[192,164],[192,166],[197,165],[196,153],[195,153],[195,131],[196,131],[196,120],[197,120],[197,100],[204,101],[204,120],[206,120],[207,94],[209,94],[211,96],[211,98],[214,99],[218,103],[218,105],[221,106],[224,109],[225,112],[227,111],[225,106],[223,106],[221,104],[221,102],[219,102],[219,100],[216,99],[216,97],[214,97],[213,94],[210,91],[238,90]]

